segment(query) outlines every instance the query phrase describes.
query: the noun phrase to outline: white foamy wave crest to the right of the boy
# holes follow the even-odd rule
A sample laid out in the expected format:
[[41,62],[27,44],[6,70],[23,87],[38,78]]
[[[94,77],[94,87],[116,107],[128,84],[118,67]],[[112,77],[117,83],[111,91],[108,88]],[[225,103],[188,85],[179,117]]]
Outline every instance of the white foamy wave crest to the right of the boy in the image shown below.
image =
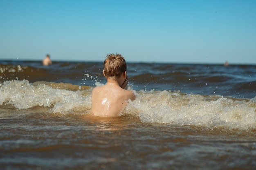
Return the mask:
[[126,110],[147,123],[256,129],[256,97],[235,99],[220,95],[140,91]]

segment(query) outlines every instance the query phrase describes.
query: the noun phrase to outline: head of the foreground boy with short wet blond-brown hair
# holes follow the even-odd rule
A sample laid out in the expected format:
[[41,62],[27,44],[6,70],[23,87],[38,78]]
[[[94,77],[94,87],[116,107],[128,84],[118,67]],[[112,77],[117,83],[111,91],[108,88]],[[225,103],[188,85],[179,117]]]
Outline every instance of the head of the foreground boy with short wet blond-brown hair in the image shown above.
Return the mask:
[[126,71],[126,61],[121,54],[108,54],[104,61],[104,75],[106,79],[110,78],[113,80],[121,77],[122,73]]

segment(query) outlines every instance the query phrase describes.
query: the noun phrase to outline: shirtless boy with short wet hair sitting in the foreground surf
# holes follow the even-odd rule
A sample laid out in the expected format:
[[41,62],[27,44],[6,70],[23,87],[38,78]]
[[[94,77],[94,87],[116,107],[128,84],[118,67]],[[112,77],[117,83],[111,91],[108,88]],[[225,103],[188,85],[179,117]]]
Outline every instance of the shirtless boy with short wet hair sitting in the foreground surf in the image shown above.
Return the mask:
[[103,75],[107,83],[92,90],[92,115],[116,117],[127,105],[128,99],[134,100],[132,91],[125,90],[128,84],[126,61],[121,54],[108,54],[104,61]]

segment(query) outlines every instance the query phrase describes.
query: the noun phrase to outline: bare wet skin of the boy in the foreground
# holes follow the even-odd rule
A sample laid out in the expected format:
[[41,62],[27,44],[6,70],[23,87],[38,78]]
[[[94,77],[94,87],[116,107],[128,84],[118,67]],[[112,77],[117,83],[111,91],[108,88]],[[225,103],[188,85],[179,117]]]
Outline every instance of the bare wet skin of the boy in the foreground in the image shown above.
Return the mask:
[[120,111],[127,106],[128,99],[135,99],[132,91],[124,89],[127,84],[128,80],[125,71],[119,79],[108,79],[107,84],[104,86],[95,87],[92,90],[91,97],[92,115],[117,117]]

